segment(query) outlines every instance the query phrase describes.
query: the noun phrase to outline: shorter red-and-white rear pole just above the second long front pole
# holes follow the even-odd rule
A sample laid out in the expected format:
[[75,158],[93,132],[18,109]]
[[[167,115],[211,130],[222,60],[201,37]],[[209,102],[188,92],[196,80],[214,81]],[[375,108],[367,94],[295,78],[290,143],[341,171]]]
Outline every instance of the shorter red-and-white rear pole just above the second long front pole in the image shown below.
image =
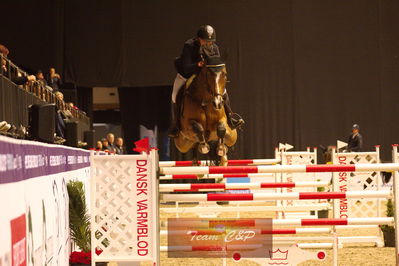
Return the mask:
[[160,192],[224,191],[230,189],[263,189],[293,187],[326,187],[328,182],[285,182],[285,183],[198,183],[160,184]]

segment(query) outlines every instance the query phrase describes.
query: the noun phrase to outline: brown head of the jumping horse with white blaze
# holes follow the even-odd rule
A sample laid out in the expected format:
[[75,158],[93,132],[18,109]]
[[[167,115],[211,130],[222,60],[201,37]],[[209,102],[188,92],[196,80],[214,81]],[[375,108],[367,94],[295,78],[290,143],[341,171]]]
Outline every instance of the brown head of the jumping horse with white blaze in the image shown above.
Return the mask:
[[220,110],[223,107],[223,94],[227,82],[226,65],[224,63],[207,63],[202,71],[206,75],[206,84],[211,96],[211,102],[216,110]]

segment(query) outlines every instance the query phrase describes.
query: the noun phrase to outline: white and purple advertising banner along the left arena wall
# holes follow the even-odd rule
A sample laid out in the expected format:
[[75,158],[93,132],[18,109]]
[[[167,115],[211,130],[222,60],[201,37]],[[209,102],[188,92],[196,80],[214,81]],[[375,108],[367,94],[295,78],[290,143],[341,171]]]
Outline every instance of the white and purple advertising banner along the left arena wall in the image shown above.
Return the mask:
[[68,265],[66,184],[89,188],[89,152],[0,136],[0,265]]

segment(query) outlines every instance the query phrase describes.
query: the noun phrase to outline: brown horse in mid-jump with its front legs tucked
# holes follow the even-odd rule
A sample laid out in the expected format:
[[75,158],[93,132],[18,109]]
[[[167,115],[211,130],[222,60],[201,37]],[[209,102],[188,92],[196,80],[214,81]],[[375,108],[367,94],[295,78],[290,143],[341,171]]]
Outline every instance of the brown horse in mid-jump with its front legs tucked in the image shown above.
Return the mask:
[[237,131],[228,125],[223,103],[227,70],[224,63],[208,63],[191,78],[191,84],[181,90],[180,132],[174,142],[182,153],[197,149],[202,154],[209,153],[209,143],[216,142],[220,164],[226,165],[227,147],[237,141]]

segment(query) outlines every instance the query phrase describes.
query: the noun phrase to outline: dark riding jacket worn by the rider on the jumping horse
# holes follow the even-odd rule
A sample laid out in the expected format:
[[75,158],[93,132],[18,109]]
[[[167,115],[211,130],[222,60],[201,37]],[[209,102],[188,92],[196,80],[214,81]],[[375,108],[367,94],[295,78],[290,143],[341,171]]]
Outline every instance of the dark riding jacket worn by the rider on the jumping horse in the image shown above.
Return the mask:
[[[219,47],[216,45],[216,43],[213,43],[211,50],[214,55],[220,55]],[[186,79],[191,77],[193,74],[198,73],[200,68],[197,64],[203,60],[201,57],[202,51],[203,50],[201,49],[198,38],[191,38],[187,40],[184,43],[181,55],[175,59],[175,67],[177,72]]]

